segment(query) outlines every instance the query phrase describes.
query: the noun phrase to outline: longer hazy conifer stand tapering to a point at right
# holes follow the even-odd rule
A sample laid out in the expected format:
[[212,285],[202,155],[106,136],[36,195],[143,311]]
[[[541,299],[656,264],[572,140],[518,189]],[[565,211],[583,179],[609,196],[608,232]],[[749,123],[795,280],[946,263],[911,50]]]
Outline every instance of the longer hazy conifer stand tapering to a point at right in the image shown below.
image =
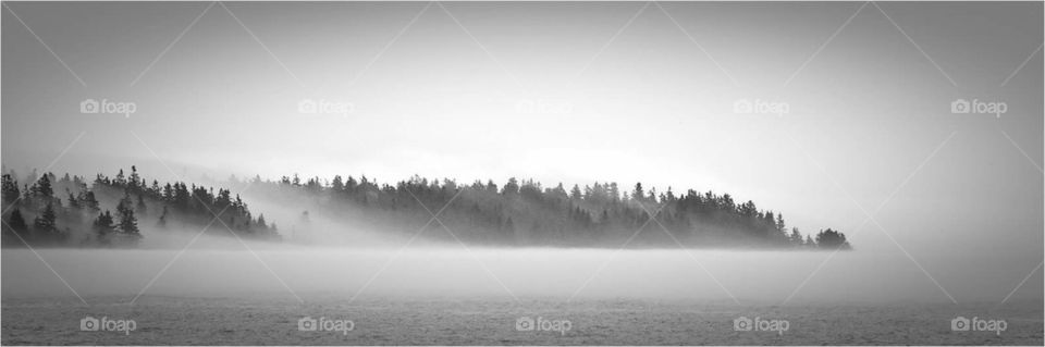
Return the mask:
[[[394,185],[336,175],[331,179],[283,176],[253,178],[251,191],[291,205],[310,207],[333,219],[369,222],[374,228],[413,232],[429,225],[428,237],[499,246],[566,247],[772,247],[850,249],[845,234],[832,228],[802,234],[788,228],[779,212],[729,194],[676,194],[647,189],[641,183],[622,189],[594,183],[569,189],[544,187],[532,179],[509,178],[458,184],[454,179],[414,176]],[[307,215],[307,211],[303,211]],[[395,221],[395,223],[389,223]],[[307,226],[295,224],[299,232]],[[442,226],[445,225],[444,230]]]

